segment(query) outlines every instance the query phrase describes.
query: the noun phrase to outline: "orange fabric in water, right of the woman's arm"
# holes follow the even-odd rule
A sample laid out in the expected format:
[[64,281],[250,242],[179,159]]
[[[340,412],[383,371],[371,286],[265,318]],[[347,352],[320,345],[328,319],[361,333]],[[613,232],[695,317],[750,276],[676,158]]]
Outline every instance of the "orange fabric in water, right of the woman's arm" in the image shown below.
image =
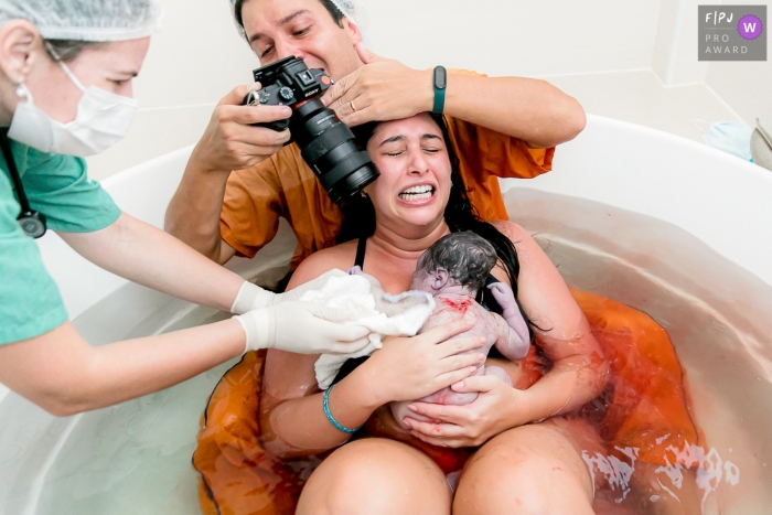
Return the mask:
[[610,452],[615,448],[639,449],[639,460],[665,465],[676,463],[668,448],[703,444],[704,437],[689,411],[691,399],[686,373],[667,332],[642,311],[603,297],[572,290],[573,299],[592,328],[611,375],[592,405],[604,405],[599,429]]

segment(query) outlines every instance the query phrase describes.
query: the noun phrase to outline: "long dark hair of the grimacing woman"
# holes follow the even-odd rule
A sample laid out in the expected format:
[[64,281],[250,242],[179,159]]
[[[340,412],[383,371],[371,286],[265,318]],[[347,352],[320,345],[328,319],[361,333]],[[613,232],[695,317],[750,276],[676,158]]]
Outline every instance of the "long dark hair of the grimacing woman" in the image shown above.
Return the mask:
[[[453,147],[450,144],[448,124],[442,116],[433,114],[429,114],[429,116],[431,116],[442,131],[442,138],[444,139],[448,157],[450,158],[450,179],[452,184],[450,186],[448,205],[444,208],[444,221],[452,233],[470,230],[482,236],[493,245],[493,248],[496,250],[496,256],[504,265],[510,283],[512,285],[512,291],[514,291],[515,297],[517,297],[517,277],[521,271],[517,249],[508,237],[478,215],[476,210],[467,195],[467,186],[461,176],[459,159],[455,155]],[[367,148],[367,142],[373,137],[377,126],[378,122],[373,121],[352,129],[354,136],[356,136],[357,143],[362,148]],[[337,235],[339,244],[352,239],[369,237],[375,233],[375,207],[368,196],[356,195],[346,200],[343,205],[341,205],[341,211],[343,212],[343,224]],[[523,316],[525,316],[525,320],[528,320],[525,313],[523,313]]]

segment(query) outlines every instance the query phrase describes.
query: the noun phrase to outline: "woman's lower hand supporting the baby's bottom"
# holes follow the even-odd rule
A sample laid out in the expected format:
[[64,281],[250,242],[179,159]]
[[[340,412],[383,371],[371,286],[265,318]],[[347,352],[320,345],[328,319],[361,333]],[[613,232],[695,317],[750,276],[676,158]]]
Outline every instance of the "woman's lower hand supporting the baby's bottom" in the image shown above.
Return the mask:
[[496,434],[523,426],[528,417],[528,394],[494,376],[474,376],[457,383],[453,391],[476,391],[478,398],[464,406],[412,403],[409,408],[436,422],[406,417],[412,434],[439,447],[478,447]]

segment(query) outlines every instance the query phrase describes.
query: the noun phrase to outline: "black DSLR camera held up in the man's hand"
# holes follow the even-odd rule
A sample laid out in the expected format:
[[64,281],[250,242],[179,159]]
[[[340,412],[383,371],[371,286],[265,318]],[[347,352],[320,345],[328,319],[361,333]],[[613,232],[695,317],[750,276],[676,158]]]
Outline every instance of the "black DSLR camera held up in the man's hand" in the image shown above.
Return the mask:
[[300,153],[319,178],[330,199],[341,202],[375,181],[375,164],[354,140],[354,133],[324,107],[321,96],[332,85],[322,69],[309,69],[302,60],[290,55],[253,72],[262,88],[249,93],[248,106],[290,106],[286,120],[255,124],[281,131],[289,127]]

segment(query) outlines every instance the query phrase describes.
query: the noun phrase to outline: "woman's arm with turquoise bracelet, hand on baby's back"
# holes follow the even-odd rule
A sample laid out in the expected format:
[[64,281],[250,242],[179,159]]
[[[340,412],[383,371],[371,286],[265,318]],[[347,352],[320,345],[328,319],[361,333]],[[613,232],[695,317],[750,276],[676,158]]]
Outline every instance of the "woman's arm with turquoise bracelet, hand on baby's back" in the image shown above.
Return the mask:
[[[289,288],[332,268],[345,267],[345,262],[353,260],[346,257],[340,247],[314,254],[298,267]],[[347,428],[356,428],[386,403],[419,398],[470,376],[484,355],[457,354],[476,348],[483,342],[467,337],[438,344],[469,329],[467,322],[460,321],[412,339],[385,339],[382,350],[330,393],[329,407],[333,417]],[[324,415],[313,368],[318,357],[268,352],[260,423],[265,448],[275,455],[315,454],[351,437],[335,429]]]

